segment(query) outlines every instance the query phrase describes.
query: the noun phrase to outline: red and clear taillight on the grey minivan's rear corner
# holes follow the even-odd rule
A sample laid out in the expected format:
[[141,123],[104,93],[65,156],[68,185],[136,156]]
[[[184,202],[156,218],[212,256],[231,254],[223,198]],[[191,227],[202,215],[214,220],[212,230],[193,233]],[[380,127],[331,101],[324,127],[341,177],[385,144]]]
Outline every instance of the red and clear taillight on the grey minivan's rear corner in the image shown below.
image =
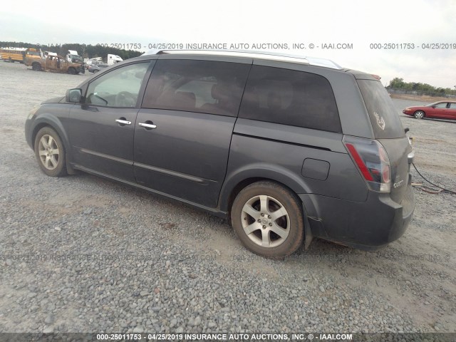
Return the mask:
[[343,143],[368,187],[378,192],[390,192],[390,159],[380,142],[346,135]]

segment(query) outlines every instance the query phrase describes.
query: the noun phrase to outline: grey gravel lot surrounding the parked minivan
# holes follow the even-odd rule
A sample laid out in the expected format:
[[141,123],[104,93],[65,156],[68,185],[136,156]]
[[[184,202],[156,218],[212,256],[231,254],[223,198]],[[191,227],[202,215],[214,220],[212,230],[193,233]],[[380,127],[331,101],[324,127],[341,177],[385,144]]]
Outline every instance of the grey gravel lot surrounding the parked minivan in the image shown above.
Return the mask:
[[[0,332],[456,332],[456,196],[415,190],[408,231],[378,252],[317,239],[262,259],[217,217],[39,170],[28,111],[87,77],[0,62]],[[415,165],[455,191],[456,123],[394,101]]]

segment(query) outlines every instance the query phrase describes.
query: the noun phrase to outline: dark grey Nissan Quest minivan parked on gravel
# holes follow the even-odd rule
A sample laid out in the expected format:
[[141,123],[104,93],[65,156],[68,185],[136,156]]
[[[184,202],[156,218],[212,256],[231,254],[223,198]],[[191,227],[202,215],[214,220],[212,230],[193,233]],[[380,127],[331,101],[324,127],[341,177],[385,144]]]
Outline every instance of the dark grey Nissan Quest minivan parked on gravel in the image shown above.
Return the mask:
[[313,237],[398,239],[413,150],[378,76],[331,61],[229,51],[128,59],[32,110],[46,175],[76,170],[178,199],[285,257]]

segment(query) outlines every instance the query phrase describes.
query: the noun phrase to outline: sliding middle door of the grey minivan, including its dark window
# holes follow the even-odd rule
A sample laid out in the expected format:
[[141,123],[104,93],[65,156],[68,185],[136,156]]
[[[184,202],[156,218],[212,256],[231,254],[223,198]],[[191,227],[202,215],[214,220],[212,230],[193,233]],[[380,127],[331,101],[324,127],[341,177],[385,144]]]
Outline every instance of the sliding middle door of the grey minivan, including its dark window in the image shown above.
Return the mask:
[[135,176],[217,207],[249,63],[158,60],[135,125]]

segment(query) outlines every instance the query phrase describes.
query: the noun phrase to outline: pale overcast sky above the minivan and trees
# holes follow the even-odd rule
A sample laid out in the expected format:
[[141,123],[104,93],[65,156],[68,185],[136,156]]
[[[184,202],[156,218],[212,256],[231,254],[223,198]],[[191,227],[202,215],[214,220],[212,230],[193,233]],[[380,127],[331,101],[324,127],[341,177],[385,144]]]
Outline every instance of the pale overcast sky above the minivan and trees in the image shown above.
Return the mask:
[[456,86],[455,0],[41,0],[38,11],[21,0],[0,9],[0,41],[136,43],[141,51],[212,43],[328,58],[385,86],[395,77]]

